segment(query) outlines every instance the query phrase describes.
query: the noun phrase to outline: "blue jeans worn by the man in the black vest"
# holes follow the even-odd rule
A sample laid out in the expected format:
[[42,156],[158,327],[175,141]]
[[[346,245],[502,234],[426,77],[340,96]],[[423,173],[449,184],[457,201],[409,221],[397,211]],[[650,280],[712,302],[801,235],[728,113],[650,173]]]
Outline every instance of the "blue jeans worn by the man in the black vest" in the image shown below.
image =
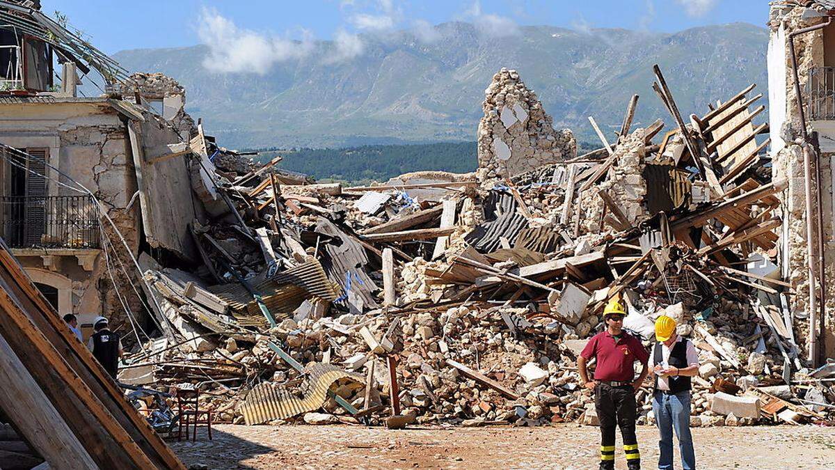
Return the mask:
[[690,434],[690,391],[681,391],[676,395],[655,392],[652,398],[652,411],[655,414],[655,424],[660,432],[660,456],[658,468],[672,470],[673,468],[673,430],[679,440],[681,452],[681,467],[684,470],[696,468],[696,454],[693,452],[693,438]]

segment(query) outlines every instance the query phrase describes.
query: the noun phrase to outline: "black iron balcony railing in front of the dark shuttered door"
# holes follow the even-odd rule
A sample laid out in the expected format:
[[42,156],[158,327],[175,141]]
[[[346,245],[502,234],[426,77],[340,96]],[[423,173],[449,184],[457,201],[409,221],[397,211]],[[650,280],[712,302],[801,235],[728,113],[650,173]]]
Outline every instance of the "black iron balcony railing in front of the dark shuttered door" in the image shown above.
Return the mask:
[[99,248],[99,211],[89,196],[0,196],[11,248]]

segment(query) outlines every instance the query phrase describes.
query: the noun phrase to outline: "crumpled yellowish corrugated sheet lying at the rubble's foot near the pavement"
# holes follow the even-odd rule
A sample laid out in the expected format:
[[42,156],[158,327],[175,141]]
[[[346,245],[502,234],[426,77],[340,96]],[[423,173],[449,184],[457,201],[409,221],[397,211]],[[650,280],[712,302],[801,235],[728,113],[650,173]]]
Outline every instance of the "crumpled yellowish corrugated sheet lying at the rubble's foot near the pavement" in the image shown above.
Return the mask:
[[312,365],[301,387],[307,391],[306,396],[300,398],[286,387],[263,382],[252,388],[240,411],[247,425],[298,416],[324,405],[331,386],[343,379],[364,382],[362,375],[346,372],[335,365]]

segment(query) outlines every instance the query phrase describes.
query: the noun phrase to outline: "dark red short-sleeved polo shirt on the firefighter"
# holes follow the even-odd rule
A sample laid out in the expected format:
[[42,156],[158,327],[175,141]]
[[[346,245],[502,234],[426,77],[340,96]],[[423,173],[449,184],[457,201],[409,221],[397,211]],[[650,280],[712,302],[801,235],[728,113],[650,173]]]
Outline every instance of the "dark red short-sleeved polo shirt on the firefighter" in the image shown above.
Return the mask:
[[580,353],[586,360],[597,357],[595,380],[631,382],[635,380],[635,360],[642,365],[650,359],[650,353],[640,344],[640,340],[629,333],[620,334],[620,340],[604,330],[595,335]]

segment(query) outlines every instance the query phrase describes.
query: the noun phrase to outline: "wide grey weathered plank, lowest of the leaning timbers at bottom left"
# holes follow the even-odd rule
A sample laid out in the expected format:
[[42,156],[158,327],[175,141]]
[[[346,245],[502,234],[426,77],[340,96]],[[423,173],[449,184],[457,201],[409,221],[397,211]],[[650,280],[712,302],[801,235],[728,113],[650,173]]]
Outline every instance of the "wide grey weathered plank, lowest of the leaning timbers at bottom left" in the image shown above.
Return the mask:
[[3,335],[0,383],[0,408],[49,465],[98,468]]

